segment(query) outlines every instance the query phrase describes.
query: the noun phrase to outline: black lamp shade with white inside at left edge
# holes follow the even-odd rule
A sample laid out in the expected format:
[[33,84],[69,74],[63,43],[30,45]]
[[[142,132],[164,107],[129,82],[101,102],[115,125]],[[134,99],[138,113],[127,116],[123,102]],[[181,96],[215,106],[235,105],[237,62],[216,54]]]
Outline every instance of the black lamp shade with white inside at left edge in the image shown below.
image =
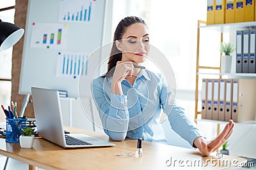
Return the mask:
[[21,29],[15,24],[3,22],[0,19],[0,51],[4,51],[15,45],[23,34],[24,29]]

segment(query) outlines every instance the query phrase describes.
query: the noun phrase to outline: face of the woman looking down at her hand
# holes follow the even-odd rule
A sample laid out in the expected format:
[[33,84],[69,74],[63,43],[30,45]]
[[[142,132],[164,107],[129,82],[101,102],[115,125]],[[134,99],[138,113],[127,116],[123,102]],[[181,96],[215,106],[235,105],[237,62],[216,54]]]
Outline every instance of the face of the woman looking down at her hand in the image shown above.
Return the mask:
[[132,24],[122,36],[122,41],[116,41],[118,50],[122,51],[123,61],[141,63],[148,53],[148,29],[144,24]]

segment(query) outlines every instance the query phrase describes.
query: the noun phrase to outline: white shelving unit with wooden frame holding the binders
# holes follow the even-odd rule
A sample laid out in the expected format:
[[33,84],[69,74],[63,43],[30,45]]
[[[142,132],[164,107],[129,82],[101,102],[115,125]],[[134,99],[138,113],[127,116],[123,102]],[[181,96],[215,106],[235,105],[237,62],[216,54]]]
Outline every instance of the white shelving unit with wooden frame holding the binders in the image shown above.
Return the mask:
[[[208,67],[208,66],[200,66],[200,29],[209,29],[213,31],[220,32],[220,43],[223,41],[223,33],[224,32],[232,32],[237,30],[255,28],[256,22],[241,22],[241,23],[232,23],[232,24],[215,24],[215,25],[206,25],[206,22],[202,20],[198,20],[198,29],[197,29],[197,51],[196,51],[196,89],[195,89],[195,122],[203,121],[203,122],[214,122],[217,124],[217,134],[220,134],[220,124],[226,124],[227,122],[217,121],[217,120],[206,120],[206,119],[198,119],[198,83],[199,83],[199,75],[202,74],[212,74],[217,75],[220,78],[256,78],[256,74],[253,73],[221,73],[221,60],[220,67]],[[221,57],[221,53],[220,53]],[[218,71],[218,73],[200,73],[202,69],[212,69]],[[251,122],[240,122],[237,124],[244,125],[253,125],[256,127],[256,121]]]

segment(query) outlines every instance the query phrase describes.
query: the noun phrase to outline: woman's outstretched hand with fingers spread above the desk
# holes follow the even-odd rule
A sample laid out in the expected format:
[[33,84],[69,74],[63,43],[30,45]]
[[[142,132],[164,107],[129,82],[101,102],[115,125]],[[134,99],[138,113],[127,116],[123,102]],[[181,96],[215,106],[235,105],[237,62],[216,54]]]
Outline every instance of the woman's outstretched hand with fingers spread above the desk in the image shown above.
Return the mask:
[[205,138],[198,137],[195,139],[194,145],[200,150],[202,156],[209,156],[212,152],[216,151],[218,148],[220,148],[221,145],[223,145],[226,142],[226,140],[233,132],[233,127],[234,122],[233,120],[230,120],[228,124],[226,124],[221,134],[217,136],[215,139],[212,139],[211,141],[207,142],[205,141]]

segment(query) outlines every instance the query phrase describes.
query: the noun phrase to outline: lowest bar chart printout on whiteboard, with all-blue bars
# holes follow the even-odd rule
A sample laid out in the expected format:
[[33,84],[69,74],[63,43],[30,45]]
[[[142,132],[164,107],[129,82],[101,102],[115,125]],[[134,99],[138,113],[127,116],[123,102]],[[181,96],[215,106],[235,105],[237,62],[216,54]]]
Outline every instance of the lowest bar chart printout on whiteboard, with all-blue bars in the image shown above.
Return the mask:
[[88,75],[88,55],[84,53],[59,53],[57,77],[78,78]]

